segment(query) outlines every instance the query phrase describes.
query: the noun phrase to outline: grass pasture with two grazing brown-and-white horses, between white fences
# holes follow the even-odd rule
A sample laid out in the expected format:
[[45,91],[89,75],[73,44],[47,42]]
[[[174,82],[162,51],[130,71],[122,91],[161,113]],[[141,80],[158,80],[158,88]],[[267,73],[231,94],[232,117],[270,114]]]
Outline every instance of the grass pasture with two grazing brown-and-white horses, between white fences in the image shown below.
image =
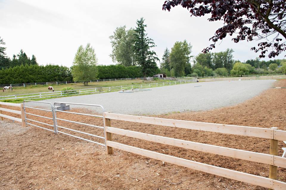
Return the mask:
[[[83,83],[70,83],[61,85],[52,85],[55,91],[62,91],[63,88],[72,87],[74,90],[85,89],[85,88],[96,88],[96,87],[111,87],[111,86],[125,86],[125,85],[137,85],[137,84],[147,84],[147,83],[163,83],[170,82],[170,80],[122,80],[122,81],[106,81],[106,82],[92,82],[84,86]],[[48,92],[47,85],[31,85],[26,87],[13,87],[13,91],[7,92],[0,91],[0,96],[14,95],[14,94],[30,94],[39,92]]]

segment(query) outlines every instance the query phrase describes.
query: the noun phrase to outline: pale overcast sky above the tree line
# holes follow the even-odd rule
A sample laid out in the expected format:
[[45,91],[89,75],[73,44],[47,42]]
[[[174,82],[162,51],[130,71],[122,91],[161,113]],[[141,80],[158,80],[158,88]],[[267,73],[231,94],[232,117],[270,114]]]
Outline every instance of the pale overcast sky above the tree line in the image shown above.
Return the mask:
[[[114,64],[109,56],[112,48],[108,37],[116,27],[135,27],[141,17],[160,60],[164,49],[171,49],[176,41],[186,39],[191,43],[193,56],[211,44],[209,38],[223,25],[221,21],[209,22],[210,15],[191,18],[188,10],[180,6],[163,11],[164,1],[0,0],[0,37],[11,58],[23,49],[30,58],[34,54],[39,64],[64,66],[71,66],[77,48],[87,43],[94,47],[99,64]],[[212,52],[232,48],[235,60],[246,61],[259,56],[250,50],[257,43],[234,43],[226,37],[217,42]],[[284,56],[285,53],[275,58]]]

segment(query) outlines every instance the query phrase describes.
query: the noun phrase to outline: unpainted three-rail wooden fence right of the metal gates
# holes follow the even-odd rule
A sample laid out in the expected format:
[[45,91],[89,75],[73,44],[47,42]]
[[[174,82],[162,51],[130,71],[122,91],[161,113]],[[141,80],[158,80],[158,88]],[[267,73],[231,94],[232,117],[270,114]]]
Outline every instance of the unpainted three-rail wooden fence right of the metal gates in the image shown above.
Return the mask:
[[[114,113],[104,113],[104,128],[105,128],[105,138],[106,138],[106,149],[108,154],[113,153],[113,148],[117,148],[123,151],[128,151],[131,153],[139,154],[142,156],[147,156],[149,158],[162,160],[164,162],[169,162],[172,164],[177,164],[183,167],[188,167],[194,170],[199,170],[202,172],[219,175],[225,178],[230,178],[237,181],[242,181],[245,183],[250,183],[253,185],[258,185],[274,190],[286,189],[286,183],[276,180],[277,178],[277,167],[286,168],[286,158],[278,156],[278,140],[286,140],[286,131],[277,130],[274,128],[258,128],[258,127],[248,127],[248,126],[236,126],[236,125],[224,125],[224,124],[213,124],[195,121],[183,121],[165,118],[153,118],[144,116],[134,116],[134,115],[122,115]],[[248,137],[259,137],[266,138],[270,140],[270,154],[257,153],[251,151],[244,151],[234,148],[227,148],[215,145],[208,145],[203,143],[196,143],[186,140],[180,140],[175,138],[163,137],[153,134],[135,132],[125,129],[118,129],[111,127],[111,119],[130,121],[143,124],[154,124],[160,126],[170,126],[185,129],[193,129],[200,131],[218,132],[224,134],[235,134],[243,135]],[[216,167],[209,164],[203,164],[200,162],[195,162],[187,159],[178,158],[175,156],[170,156],[162,153],[157,153],[154,151],[145,150],[142,148],[136,148],[133,146],[125,145],[122,143],[116,143],[112,141],[112,133],[124,135],[127,137],[133,137],[137,139],[147,140],[156,143],[162,143],[165,145],[172,145],[181,148],[187,148],[195,151],[202,151],[222,156],[228,156],[237,159],[248,160],[252,162],[259,162],[263,164],[269,164],[269,178],[261,177],[257,175],[252,175],[244,172],[238,172],[235,170],[230,170],[226,168]]]

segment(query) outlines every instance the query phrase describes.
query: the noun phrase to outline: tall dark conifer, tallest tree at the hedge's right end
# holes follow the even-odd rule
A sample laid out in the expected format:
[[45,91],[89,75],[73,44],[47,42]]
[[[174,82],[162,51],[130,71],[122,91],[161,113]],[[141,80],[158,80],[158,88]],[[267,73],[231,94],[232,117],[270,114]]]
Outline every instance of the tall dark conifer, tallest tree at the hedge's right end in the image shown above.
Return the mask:
[[156,71],[157,64],[156,61],[159,61],[156,53],[153,50],[150,50],[152,47],[155,47],[153,39],[147,37],[145,33],[145,27],[143,17],[140,20],[136,21],[137,27],[134,34],[134,51],[136,55],[136,61],[142,68],[142,73],[144,80],[146,76],[154,73]]

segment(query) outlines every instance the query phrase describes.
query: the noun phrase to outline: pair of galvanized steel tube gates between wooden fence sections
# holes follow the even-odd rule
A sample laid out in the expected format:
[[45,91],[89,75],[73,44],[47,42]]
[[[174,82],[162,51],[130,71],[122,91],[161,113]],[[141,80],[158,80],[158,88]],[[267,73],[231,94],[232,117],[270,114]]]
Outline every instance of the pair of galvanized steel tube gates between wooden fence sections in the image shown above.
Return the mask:
[[[50,110],[47,110],[47,109],[42,109],[42,108],[27,106],[27,102],[36,102],[36,103],[38,103],[38,104],[48,105],[51,109],[50,109]],[[57,110],[57,109],[55,109],[55,105],[56,105],[56,104],[61,104],[61,103],[69,104],[69,105],[83,105],[83,106],[100,107],[100,108],[102,109],[102,115],[93,115],[93,114],[86,114],[86,113],[77,113],[77,112],[62,111],[62,110]],[[73,135],[73,134],[68,134],[68,133],[65,133],[65,132],[60,131],[59,128],[60,128],[60,129],[66,129],[66,130],[69,130],[69,131],[72,131],[72,132],[77,132],[77,133],[89,135],[89,136],[91,136],[91,137],[97,137],[97,138],[100,138],[100,139],[104,139],[104,141],[105,141],[105,137],[101,137],[101,136],[99,136],[99,135],[90,134],[90,133],[86,133],[86,132],[83,132],[83,131],[78,131],[78,130],[75,130],[75,129],[70,129],[70,128],[67,128],[67,127],[63,127],[63,126],[57,125],[57,120],[60,120],[60,121],[66,121],[66,122],[69,122],[69,123],[75,123],[75,124],[80,124],[80,125],[84,125],[84,126],[95,127],[95,128],[103,129],[103,132],[104,132],[104,135],[105,135],[105,131],[104,131],[105,128],[104,128],[103,126],[97,126],[97,125],[92,125],[92,124],[86,124],[86,123],[81,123],[81,122],[78,122],[78,121],[71,121],[71,120],[67,120],[67,119],[63,119],[63,118],[58,118],[58,117],[57,117],[57,112],[64,112],[64,113],[70,113],[70,114],[86,115],[86,116],[92,116],[92,117],[102,118],[102,119],[103,119],[103,123],[104,123],[104,122],[105,122],[105,120],[104,120],[104,114],[103,114],[103,113],[104,113],[104,108],[103,108],[101,105],[79,104],[79,103],[69,103],[69,102],[55,102],[54,105],[52,105],[52,104],[49,103],[49,102],[40,102],[40,101],[32,101],[32,100],[24,100],[24,103],[23,103],[23,104],[24,104],[24,113],[25,113],[25,122],[26,122],[26,124],[29,124],[29,125],[32,125],[32,126],[35,126],[35,127],[39,127],[39,128],[41,128],[41,129],[45,129],[45,130],[54,132],[55,134],[58,134],[58,133],[66,134],[66,135],[69,135],[69,136],[71,136],[71,137],[75,137],[75,138],[78,138],[78,139],[81,139],[81,140],[86,140],[86,141],[88,141],[88,142],[90,142],[90,143],[95,143],[95,144],[98,144],[98,145],[105,146],[105,143],[102,144],[102,143],[99,143],[99,142],[95,142],[95,141],[93,141],[93,140],[88,140],[88,139],[85,139],[85,138],[82,138],[82,137],[75,136],[75,135]],[[45,111],[45,112],[52,112],[52,118],[51,118],[51,117],[46,117],[46,116],[43,116],[43,115],[37,115],[37,114],[28,113],[26,108],[35,109],[35,110],[41,110],[41,111]],[[41,121],[29,119],[29,118],[27,118],[27,115],[33,115],[33,116],[35,116],[35,117],[50,119],[50,120],[53,121],[53,125],[47,124],[47,123],[44,123],[44,122],[41,122]],[[45,127],[42,127],[42,126],[38,126],[38,125],[35,125],[35,124],[31,124],[29,121],[36,122],[36,123],[40,123],[40,124],[43,124],[43,125],[46,125],[46,126],[53,127],[54,130],[48,129],[48,128],[45,128]]]

